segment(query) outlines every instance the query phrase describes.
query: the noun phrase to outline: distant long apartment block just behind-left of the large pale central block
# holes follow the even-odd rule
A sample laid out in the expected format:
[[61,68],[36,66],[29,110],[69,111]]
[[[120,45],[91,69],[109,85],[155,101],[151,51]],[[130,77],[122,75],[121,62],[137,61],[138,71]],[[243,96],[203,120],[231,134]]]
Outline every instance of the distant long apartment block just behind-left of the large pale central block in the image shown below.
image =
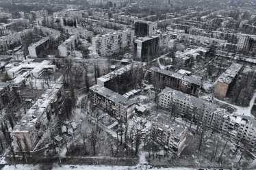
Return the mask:
[[64,26],[63,27],[64,32],[67,34],[70,34],[72,36],[79,36],[79,38],[90,38],[92,40],[92,37],[94,36],[93,31],[88,31],[87,29],[81,29],[76,27],[69,27]]

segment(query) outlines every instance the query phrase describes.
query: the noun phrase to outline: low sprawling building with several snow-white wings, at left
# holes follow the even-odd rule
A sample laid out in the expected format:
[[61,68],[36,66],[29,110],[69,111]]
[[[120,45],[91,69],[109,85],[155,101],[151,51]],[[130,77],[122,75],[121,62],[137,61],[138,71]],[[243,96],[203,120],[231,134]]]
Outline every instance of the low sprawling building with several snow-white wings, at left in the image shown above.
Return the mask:
[[[32,61],[32,60],[31,60]],[[40,78],[45,72],[55,72],[56,66],[51,64],[50,60],[44,60],[41,63],[37,62],[21,62],[17,66],[6,65],[5,70],[7,70],[8,75],[14,79],[19,74],[29,71],[30,76]]]

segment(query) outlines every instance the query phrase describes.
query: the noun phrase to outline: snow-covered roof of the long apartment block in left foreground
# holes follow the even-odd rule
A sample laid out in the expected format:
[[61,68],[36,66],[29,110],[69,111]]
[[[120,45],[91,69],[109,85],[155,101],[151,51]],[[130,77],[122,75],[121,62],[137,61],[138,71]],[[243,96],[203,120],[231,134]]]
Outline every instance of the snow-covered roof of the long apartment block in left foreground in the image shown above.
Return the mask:
[[39,117],[47,116],[46,111],[49,104],[54,102],[58,91],[62,88],[61,84],[53,84],[49,87],[44,94],[35,102],[35,104],[27,111],[27,114],[21,119],[21,121],[14,126],[12,132],[29,132]]

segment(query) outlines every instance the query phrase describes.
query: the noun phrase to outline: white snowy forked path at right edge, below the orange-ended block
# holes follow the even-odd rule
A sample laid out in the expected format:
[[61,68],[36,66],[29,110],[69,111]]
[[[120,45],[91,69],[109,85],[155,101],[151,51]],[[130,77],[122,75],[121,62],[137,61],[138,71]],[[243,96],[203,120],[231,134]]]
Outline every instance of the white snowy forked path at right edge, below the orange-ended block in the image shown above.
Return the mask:
[[222,102],[222,103],[228,104],[229,106],[235,108],[236,111],[234,113],[237,114],[237,115],[246,115],[246,116],[254,117],[253,115],[251,115],[251,109],[253,107],[255,98],[256,98],[256,92],[253,95],[253,98],[251,99],[250,105],[248,107],[239,107],[239,106],[236,106],[234,104],[230,104],[228,102],[224,102],[222,100],[218,100],[217,98],[214,98],[214,100],[216,100],[218,102]]

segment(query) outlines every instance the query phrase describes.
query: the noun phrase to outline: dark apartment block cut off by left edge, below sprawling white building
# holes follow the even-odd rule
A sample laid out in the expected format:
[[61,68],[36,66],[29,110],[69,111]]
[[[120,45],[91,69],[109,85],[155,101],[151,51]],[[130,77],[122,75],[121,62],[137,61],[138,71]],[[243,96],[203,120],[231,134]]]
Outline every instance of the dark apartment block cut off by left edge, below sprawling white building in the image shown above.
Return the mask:
[[14,99],[14,94],[12,91],[11,83],[0,83],[0,109],[3,109],[5,104],[8,104],[11,100]]

